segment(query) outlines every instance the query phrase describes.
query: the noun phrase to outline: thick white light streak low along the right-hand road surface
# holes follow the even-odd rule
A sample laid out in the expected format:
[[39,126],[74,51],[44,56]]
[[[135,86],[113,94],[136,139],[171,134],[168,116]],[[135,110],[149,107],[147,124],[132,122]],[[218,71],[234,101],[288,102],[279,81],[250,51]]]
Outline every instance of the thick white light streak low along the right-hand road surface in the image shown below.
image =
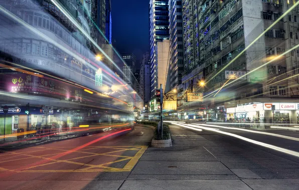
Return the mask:
[[191,126],[191,127],[193,126],[193,127],[208,130],[208,131],[218,132],[218,133],[229,135],[229,136],[233,136],[233,137],[239,138],[241,140],[251,142],[253,144],[257,144],[257,145],[260,145],[260,146],[264,146],[264,147],[267,147],[267,148],[270,148],[270,149],[273,149],[273,150],[277,150],[277,151],[280,151],[280,152],[283,152],[283,153],[287,153],[287,154],[299,157],[299,152],[289,150],[289,149],[285,149],[285,148],[278,147],[278,146],[274,146],[274,145],[267,144],[267,143],[264,143],[264,142],[260,142],[260,141],[257,141],[257,140],[252,140],[250,138],[246,138],[246,137],[243,137],[243,136],[240,136],[240,135],[237,135],[237,134],[233,134],[233,133],[230,133],[230,132],[224,132],[224,131],[221,131],[221,130],[216,130],[215,128],[210,128],[210,127],[205,127],[205,126],[197,126],[197,125],[193,125],[193,124],[185,124],[185,125],[188,125],[188,126]]

